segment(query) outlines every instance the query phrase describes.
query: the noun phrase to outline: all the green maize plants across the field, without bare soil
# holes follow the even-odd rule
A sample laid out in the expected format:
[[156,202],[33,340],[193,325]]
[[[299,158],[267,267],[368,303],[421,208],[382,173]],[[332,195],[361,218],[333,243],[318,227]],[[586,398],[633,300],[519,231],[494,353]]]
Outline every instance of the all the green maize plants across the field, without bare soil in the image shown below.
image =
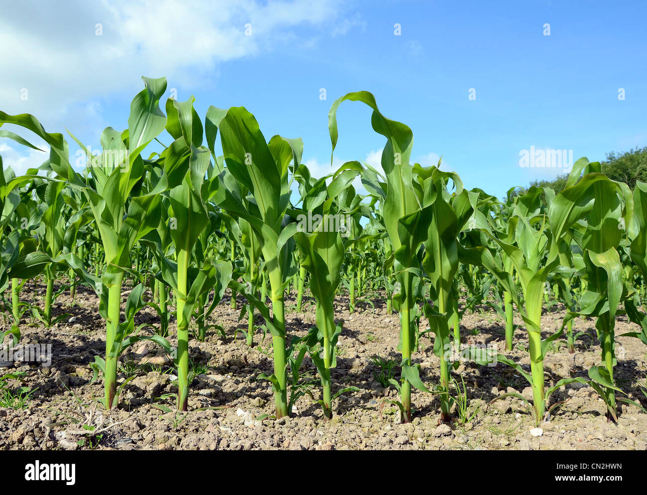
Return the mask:
[[[411,163],[413,132],[384,116],[366,91],[334,102],[332,150],[340,104],[362,102],[386,139],[382,170],[350,161],[312,177],[299,138],[267,140],[244,107],[212,106],[201,118],[191,97],[168,99],[162,111],[166,79],[143,80],[127,129],[107,127],[100,153],[68,133],[87,157],[82,170],[72,166],[62,134],[45,131],[32,115],[0,112],[0,126],[30,131],[49,147],[49,158],[19,177],[0,157],[0,292],[10,322],[0,336],[8,345],[19,342],[28,310],[49,327],[69,316],[52,314],[56,298],[69,291],[73,301],[77,288],[87,287],[105,321],[105,354],[93,363],[104,382],[105,408],[118,404],[125,385],[117,383],[124,350],[151,341],[173,359],[177,409],[184,411],[192,326],[199,341],[218,331],[210,316],[228,290],[228,303],[237,308],[241,302],[240,317],[247,317],[247,330],[237,330],[247,345],[255,345],[259,329],[271,336],[274,369],[259,379],[274,390],[275,417],[289,415],[303,396],[299,369],[309,355],[322,386],[318,403],[331,418],[334,399],[357,390],[333,384],[344,331],[334,303],[347,297],[352,313],[381,298],[386,313],[397,311],[400,318],[400,379],[391,385],[399,391],[393,402],[402,421],[415,412],[414,389],[437,395],[441,420],[450,421],[454,364],[447,353],[461,350],[465,311],[487,305],[505,322],[505,351],[512,350],[515,331],[527,333],[530,365],[505,352],[477,362],[512,366],[527,379],[536,423],[553,412],[551,395],[572,382],[597,391],[609,420],[617,419],[619,401],[641,407],[614,379],[615,322],[626,314],[638,330],[624,335],[647,344],[647,184],[631,192],[608,179],[599,163],[580,159],[558,194],[512,189],[499,200],[466,190],[441,162]],[[0,138],[39,149],[10,130],[0,129]],[[357,178],[366,195],[356,192]],[[323,221],[304,223],[313,217]],[[67,283],[57,287],[63,278]],[[38,281],[34,290],[45,285],[42,309],[27,297],[25,287],[33,285],[27,281]],[[287,293],[294,293],[294,311],[314,304],[315,325],[303,338],[290,336],[285,324]],[[542,311],[556,303],[565,308],[562,327],[542,335]],[[135,324],[145,307],[158,314],[158,325]],[[515,316],[523,324],[514,324]],[[586,378],[547,386],[547,351],[560,339],[575,351],[582,335],[573,334],[577,316],[595,318],[600,364]],[[439,357],[435,382],[415,361],[424,335]]]

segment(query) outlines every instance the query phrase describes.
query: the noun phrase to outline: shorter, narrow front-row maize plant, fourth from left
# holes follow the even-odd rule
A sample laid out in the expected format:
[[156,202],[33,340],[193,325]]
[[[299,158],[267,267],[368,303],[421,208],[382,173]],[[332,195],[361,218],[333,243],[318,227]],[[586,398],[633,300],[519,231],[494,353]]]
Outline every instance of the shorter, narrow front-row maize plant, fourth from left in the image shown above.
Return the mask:
[[[352,215],[355,212],[345,212],[339,203],[340,195],[351,187],[351,182],[362,170],[358,162],[347,162],[333,175],[333,180],[326,186],[326,179],[322,177],[314,181],[309,175],[295,174],[300,182],[302,190],[303,217],[320,215],[322,219],[319,225],[312,232],[309,232],[303,225],[294,234],[294,240],[300,250],[302,267],[310,273],[309,289],[316,301],[316,327],[305,338],[310,356],[317,368],[322,382],[323,399],[320,402],[323,406],[323,416],[327,419],[333,417],[332,402],[341,393],[351,390],[359,390],[356,387],[344,388],[332,395],[331,369],[336,366],[336,345],[337,339],[342,333],[342,325],[334,323],[333,300],[341,281],[341,270],[344,263],[344,252],[357,239],[349,239],[346,234],[345,225],[342,230],[341,218],[345,214]],[[354,190],[353,190],[354,193]],[[336,223],[336,228],[335,224]]]

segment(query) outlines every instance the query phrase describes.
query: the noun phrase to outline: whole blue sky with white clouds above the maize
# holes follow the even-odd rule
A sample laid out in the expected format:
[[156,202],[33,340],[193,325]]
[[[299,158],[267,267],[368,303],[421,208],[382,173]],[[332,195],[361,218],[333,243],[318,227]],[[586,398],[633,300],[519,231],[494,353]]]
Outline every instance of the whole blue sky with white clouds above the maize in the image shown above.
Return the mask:
[[[592,161],[647,146],[641,1],[19,4],[0,17],[0,109],[93,147],[104,127],[126,127],[142,75],[168,77],[179,100],[193,94],[201,116],[244,105],[268,140],[302,137],[318,176],[333,170],[330,106],[359,90],[413,129],[414,160],[443,155],[466,187],[499,197],[563,171],[521,168],[531,146]],[[384,138],[369,109],[346,102],[338,119],[336,164],[377,164]],[[7,140],[0,154],[17,171],[43,160]]]

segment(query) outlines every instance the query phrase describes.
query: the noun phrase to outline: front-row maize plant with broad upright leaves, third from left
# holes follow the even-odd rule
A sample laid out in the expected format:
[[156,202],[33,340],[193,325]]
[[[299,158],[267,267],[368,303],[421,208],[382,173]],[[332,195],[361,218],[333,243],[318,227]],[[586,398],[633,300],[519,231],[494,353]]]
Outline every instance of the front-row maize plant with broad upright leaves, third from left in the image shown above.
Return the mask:
[[[280,418],[289,415],[285,288],[296,273],[292,257],[296,223],[284,224],[291,195],[288,170],[291,162],[294,168],[300,164],[303,144],[300,139],[280,136],[266,142],[256,118],[243,107],[228,110],[210,107],[205,130],[214,155],[215,137],[220,131],[226,164],[226,169],[214,181],[214,201],[232,217],[246,220],[261,242],[272,299],[272,320],[266,317],[266,324],[272,334],[274,373],[268,379],[274,388],[276,417]],[[241,197],[238,184],[254,197],[254,202]],[[250,301],[251,294],[245,296]]]

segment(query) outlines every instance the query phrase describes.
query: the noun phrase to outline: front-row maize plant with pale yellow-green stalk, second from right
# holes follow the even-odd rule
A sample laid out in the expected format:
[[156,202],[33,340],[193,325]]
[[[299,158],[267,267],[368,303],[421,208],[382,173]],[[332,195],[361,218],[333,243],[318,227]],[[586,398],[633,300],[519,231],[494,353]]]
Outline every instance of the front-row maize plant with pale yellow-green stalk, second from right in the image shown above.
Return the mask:
[[[551,394],[565,384],[572,382],[587,383],[598,391],[601,390],[600,386],[602,386],[606,388],[607,393],[609,393],[608,390],[619,390],[609,383],[604,374],[601,375],[598,368],[595,367],[589,370],[590,380],[584,380],[581,377],[563,379],[548,390],[545,389],[543,379],[543,359],[547,349],[551,342],[559,338],[563,332],[562,327],[553,335],[542,340],[541,317],[545,283],[551,272],[559,270],[559,252],[560,248],[565,246],[564,243],[560,243],[560,239],[567,235],[576,237],[578,230],[582,227],[582,219],[594,209],[596,188],[592,184],[606,179],[606,176],[602,174],[589,173],[575,184],[587,163],[586,159],[580,159],[576,162],[567,188],[556,197],[554,197],[552,190],[543,189],[548,206],[547,212],[542,212],[541,190],[539,188],[531,188],[525,195],[516,199],[514,215],[510,218],[510,228],[514,229],[512,243],[505,243],[498,239],[493,234],[488,219],[480,212],[475,211],[474,224],[476,228],[481,228],[484,232],[487,232],[490,238],[512,259],[514,268],[520,278],[523,305],[521,305],[514,291],[512,277],[503,270],[498,255],[493,256],[487,247],[463,248],[461,250],[461,259],[463,261],[481,265],[488,269],[496,276],[504,289],[512,294],[512,299],[526,324],[529,333],[531,373],[527,373],[519,364],[503,355],[499,354],[497,359],[504,364],[513,366],[531,384],[533,414],[537,424],[542,421],[545,413],[551,412],[557,405],[554,404],[547,408]],[[606,180],[608,181],[609,179]],[[616,186],[614,185],[613,187],[615,188]],[[589,228],[600,230],[605,223],[608,225],[609,218],[607,217],[604,220],[594,214],[589,218]],[[595,223],[592,221],[595,221]],[[616,219],[615,228],[617,228],[617,225]],[[550,230],[548,230],[549,226]],[[604,298],[602,294],[598,294],[597,297],[598,302]],[[507,395],[514,395],[525,401],[521,395],[516,393],[504,394],[500,397]]]

